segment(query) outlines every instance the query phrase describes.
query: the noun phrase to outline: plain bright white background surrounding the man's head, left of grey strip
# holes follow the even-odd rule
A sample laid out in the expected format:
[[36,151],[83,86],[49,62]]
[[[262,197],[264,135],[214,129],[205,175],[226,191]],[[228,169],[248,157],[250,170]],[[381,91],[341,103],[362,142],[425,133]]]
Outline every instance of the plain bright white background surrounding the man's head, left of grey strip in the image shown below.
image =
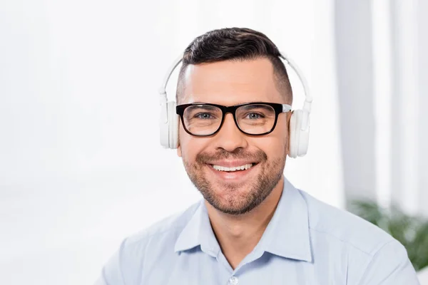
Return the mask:
[[124,237],[200,199],[158,144],[157,90],[213,28],[259,29],[299,63],[310,152],[286,175],[343,206],[331,1],[178,2],[0,2],[0,284],[91,284]]

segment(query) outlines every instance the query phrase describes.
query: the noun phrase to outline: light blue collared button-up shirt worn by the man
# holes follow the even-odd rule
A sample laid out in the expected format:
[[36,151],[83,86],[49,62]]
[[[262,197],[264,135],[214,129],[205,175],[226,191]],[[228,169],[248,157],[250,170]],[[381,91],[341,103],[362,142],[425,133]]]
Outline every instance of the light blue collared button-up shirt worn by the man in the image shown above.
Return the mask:
[[128,237],[96,284],[415,285],[406,249],[389,234],[285,180],[253,252],[232,269],[203,200]]

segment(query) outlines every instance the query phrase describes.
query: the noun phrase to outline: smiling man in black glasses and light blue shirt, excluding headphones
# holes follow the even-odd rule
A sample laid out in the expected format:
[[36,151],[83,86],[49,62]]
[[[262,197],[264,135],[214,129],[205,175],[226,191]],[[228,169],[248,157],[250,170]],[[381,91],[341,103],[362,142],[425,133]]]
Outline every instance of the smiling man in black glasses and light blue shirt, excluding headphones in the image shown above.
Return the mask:
[[177,153],[204,199],[125,239],[98,284],[418,284],[397,240],[285,179],[292,90],[279,56],[248,28],[186,48]]

